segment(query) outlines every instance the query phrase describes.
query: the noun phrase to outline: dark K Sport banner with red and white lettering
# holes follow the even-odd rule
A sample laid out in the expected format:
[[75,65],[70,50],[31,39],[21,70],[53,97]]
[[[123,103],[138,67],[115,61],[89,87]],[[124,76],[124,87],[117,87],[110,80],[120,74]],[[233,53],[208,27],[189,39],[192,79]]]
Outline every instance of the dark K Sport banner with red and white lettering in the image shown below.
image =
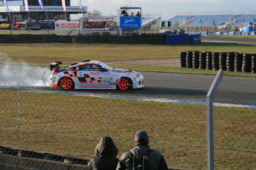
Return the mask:
[[113,21],[103,21],[103,22],[83,22],[84,30],[104,30],[111,31],[113,30]]

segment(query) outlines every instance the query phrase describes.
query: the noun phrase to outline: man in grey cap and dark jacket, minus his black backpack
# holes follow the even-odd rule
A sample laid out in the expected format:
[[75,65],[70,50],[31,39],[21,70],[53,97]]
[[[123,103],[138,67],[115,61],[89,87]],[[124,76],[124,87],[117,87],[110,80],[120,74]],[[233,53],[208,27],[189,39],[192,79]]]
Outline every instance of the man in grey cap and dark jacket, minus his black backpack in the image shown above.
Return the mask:
[[[149,137],[147,135],[147,132],[143,130],[137,131],[134,142],[135,147],[131,149],[130,152],[134,156],[137,156],[137,151],[140,151],[142,155],[145,155],[145,153],[149,149]],[[129,168],[129,160],[130,155],[128,154],[128,152],[123,153],[121,158],[119,159],[116,170],[127,170]],[[148,156],[148,162],[150,170],[168,170],[166,161],[164,160],[164,157],[159,151],[152,150]]]

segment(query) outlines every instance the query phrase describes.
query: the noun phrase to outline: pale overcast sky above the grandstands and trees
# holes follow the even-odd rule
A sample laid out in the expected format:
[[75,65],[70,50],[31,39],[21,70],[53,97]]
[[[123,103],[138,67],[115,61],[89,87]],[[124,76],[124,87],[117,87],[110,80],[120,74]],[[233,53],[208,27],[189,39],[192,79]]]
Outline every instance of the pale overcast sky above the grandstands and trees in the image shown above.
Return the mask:
[[[81,0],[88,11],[97,9],[104,15],[116,15],[120,6],[141,7],[144,14],[161,14],[161,19],[177,12],[201,11],[238,11],[255,10],[256,0]],[[71,6],[79,6],[77,0],[71,0]],[[138,10],[133,9],[134,12]]]

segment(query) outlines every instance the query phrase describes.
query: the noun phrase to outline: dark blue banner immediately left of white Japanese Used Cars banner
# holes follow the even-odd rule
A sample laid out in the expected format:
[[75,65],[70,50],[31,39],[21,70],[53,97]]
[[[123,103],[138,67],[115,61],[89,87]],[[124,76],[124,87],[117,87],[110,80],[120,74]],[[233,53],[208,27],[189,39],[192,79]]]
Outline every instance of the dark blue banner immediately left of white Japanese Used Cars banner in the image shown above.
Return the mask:
[[53,21],[44,22],[27,22],[28,31],[39,31],[39,30],[54,30]]

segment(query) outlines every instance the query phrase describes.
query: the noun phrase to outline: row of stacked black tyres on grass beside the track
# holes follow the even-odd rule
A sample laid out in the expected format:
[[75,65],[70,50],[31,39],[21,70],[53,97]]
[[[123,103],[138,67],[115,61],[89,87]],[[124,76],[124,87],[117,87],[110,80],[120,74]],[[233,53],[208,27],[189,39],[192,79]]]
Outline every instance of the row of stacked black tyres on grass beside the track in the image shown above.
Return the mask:
[[179,53],[180,68],[256,73],[256,54],[185,51]]

